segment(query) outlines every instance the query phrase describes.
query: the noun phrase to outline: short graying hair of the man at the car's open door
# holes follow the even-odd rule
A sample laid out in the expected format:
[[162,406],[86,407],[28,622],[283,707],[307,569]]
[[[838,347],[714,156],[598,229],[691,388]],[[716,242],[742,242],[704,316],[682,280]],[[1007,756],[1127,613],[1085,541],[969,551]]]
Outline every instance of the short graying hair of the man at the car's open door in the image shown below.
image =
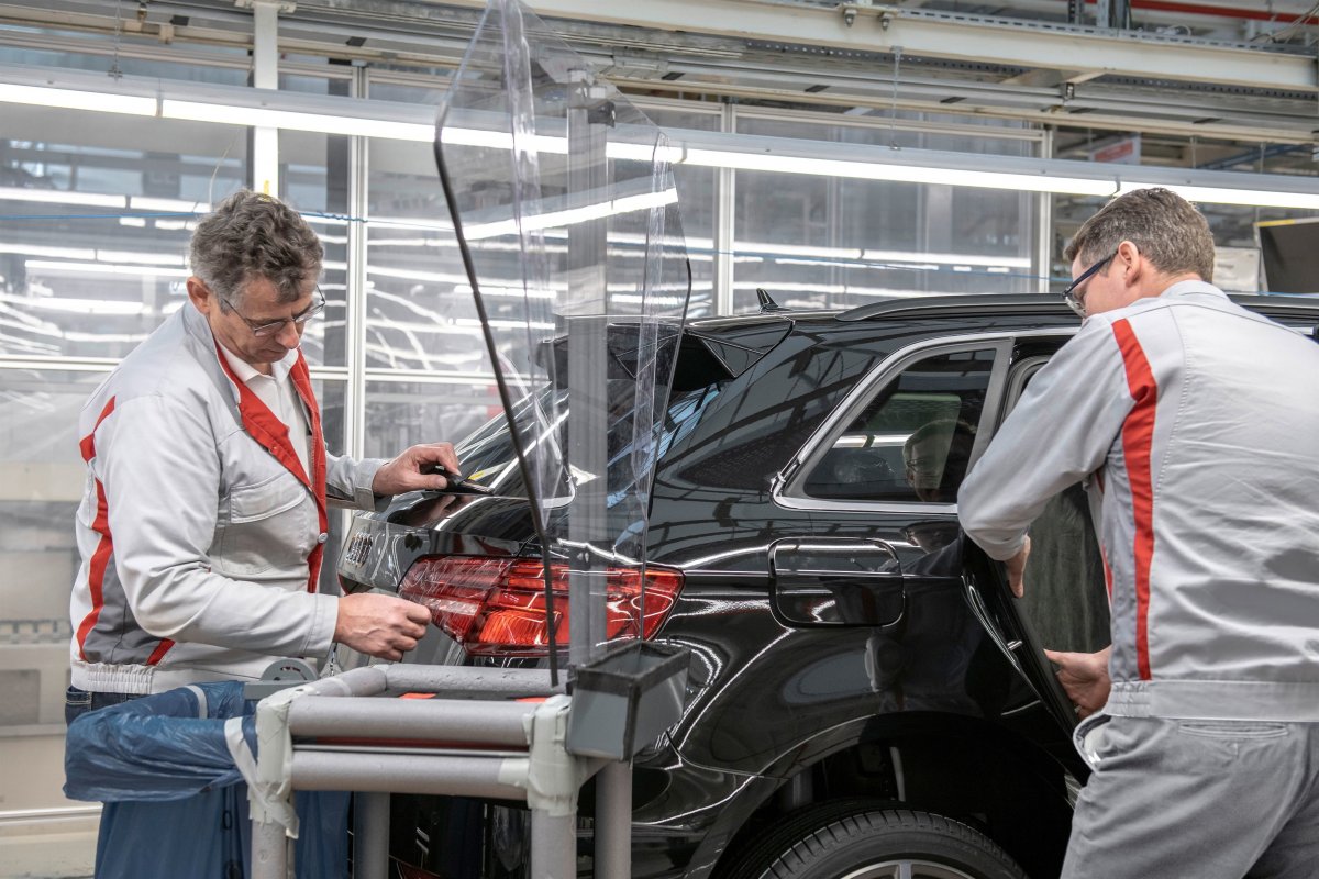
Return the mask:
[[1194,271],[1213,281],[1213,233],[1204,215],[1175,192],[1165,188],[1134,190],[1100,208],[1086,220],[1063,258],[1086,265],[1117,252],[1130,241],[1165,274]]

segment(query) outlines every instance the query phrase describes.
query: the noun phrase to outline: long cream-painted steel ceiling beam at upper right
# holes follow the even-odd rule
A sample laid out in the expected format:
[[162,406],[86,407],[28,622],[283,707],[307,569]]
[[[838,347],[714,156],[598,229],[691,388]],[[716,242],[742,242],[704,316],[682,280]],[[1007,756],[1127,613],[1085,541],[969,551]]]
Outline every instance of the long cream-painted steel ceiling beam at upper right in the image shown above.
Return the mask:
[[[484,0],[431,5],[483,8]],[[539,16],[906,57],[1095,75],[1319,91],[1312,55],[1133,30],[1079,28],[900,7],[834,8],[773,0],[530,0]]]

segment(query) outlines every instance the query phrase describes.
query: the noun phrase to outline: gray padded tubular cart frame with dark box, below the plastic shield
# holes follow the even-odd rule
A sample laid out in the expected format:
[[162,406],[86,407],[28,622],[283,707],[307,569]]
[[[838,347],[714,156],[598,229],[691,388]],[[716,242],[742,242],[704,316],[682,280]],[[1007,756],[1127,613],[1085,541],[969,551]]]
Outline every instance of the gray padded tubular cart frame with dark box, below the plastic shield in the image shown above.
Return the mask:
[[599,774],[595,874],[625,878],[629,762],[677,722],[686,679],[685,651],[632,642],[583,664],[571,697],[543,671],[438,666],[371,666],[269,696],[248,788],[252,876],[289,875],[294,791],[353,791],[355,879],[388,875],[392,792],[525,801],[532,875],[574,879],[578,789]]

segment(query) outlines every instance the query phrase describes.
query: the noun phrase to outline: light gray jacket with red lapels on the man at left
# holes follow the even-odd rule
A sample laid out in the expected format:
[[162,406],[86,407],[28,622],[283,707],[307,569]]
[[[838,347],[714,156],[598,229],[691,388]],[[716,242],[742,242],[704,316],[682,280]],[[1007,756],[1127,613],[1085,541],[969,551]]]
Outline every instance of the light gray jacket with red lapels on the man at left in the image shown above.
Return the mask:
[[311,473],[190,303],[83,407],[73,685],[157,693],[328,650],[338,598],[317,592],[326,503],[373,506],[381,461],[327,455],[306,361],[290,358]]

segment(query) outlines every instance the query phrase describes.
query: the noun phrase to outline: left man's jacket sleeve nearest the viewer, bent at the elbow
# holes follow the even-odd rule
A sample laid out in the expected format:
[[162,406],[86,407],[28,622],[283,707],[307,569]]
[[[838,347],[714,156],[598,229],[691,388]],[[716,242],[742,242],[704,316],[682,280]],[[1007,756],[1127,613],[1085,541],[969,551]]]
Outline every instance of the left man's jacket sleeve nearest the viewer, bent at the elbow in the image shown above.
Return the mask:
[[338,598],[211,571],[220,461],[210,424],[177,401],[119,405],[95,432],[115,573],[157,638],[285,656],[323,652]]

